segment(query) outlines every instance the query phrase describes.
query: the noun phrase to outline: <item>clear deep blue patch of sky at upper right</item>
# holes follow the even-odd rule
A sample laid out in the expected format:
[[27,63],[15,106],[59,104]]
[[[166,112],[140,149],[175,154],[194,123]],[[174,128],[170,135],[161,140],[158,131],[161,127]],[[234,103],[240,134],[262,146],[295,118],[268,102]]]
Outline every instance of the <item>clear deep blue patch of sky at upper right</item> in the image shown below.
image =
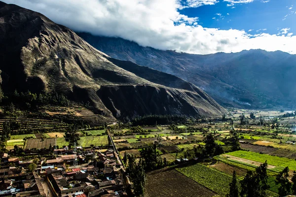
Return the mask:
[[269,0],[265,3],[254,0],[233,6],[227,4],[230,5],[229,2],[219,0],[214,5],[184,8],[180,13],[198,17],[198,23],[206,28],[253,30],[250,33],[254,34],[277,34],[279,29],[291,28],[289,32],[296,33],[296,0]]

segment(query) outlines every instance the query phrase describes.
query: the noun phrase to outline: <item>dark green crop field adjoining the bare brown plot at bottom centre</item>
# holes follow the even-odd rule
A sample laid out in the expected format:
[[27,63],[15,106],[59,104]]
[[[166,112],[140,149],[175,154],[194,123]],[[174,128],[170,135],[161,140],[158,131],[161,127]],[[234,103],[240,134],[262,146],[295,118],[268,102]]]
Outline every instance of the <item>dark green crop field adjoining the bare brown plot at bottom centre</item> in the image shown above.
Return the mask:
[[232,177],[209,168],[202,164],[195,164],[188,167],[177,168],[179,172],[193,179],[201,185],[213,190],[219,195],[226,196],[229,190],[229,183]]

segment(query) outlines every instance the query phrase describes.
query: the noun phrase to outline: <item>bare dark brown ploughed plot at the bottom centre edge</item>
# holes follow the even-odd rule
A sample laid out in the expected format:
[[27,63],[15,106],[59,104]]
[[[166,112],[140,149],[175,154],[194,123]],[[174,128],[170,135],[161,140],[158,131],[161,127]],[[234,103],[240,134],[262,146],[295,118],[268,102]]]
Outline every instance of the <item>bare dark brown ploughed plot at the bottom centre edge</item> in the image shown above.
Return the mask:
[[217,194],[176,170],[148,173],[145,197],[213,197]]

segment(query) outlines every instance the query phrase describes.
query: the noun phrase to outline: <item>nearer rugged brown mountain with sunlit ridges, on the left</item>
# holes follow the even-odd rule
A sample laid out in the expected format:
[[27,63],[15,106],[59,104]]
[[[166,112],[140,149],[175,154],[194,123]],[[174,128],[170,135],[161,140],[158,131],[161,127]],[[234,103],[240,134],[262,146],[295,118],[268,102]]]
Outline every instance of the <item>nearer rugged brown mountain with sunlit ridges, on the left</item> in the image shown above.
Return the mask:
[[[185,80],[98,51],[40,13],[0,2],[4,93],[30,90],[89,101],[108,120],[146,114],[220,116],[214,99]],[[106,121],[107,121],[106,118]]]

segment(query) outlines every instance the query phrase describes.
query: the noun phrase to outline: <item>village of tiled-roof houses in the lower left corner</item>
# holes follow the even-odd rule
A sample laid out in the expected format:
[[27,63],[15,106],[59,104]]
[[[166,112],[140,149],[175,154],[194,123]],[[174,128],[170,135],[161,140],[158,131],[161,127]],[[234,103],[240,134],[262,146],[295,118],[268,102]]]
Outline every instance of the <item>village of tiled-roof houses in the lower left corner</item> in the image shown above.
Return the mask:
[[[54,153],[52,158],[36,157],[30,161],[3,153],[0,196],[127,196],[125,189],[130,184],[113,147],[102,150],[98,147],[69,149],[66,146],[54,149]],[[30,150],[26,154],[31,154]]]

